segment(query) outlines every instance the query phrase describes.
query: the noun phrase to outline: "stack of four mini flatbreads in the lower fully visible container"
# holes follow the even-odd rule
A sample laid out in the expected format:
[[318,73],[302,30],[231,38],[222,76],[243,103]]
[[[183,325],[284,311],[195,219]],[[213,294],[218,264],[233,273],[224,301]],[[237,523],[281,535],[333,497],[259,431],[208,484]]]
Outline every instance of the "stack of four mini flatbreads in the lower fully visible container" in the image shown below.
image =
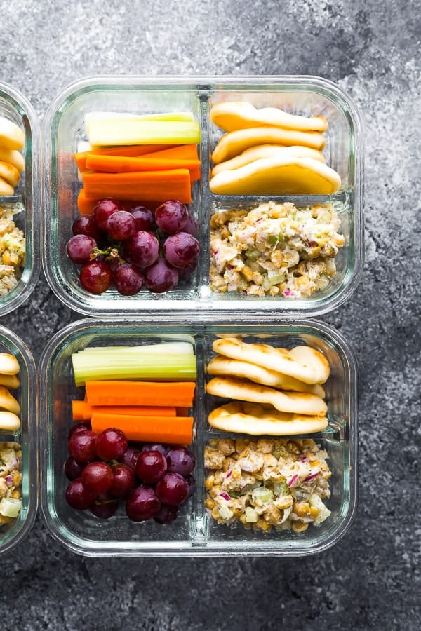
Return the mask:
[[232,402],[210,412],[212,427],[250,435],[297,435],[328,426],[324,384],[326,358],[310,346],[274,348],[223,338],[208,363],[206,391]]

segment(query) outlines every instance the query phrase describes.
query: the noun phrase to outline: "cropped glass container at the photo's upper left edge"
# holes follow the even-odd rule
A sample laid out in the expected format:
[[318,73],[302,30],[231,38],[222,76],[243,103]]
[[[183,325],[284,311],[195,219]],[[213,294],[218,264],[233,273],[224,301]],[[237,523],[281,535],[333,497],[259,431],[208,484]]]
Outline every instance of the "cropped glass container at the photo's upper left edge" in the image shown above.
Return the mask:
[[[25,134],[20,151],[22,172],[13,195],[0,191],[0,315],[20,306],[32,292],[41,268],[39,219],[39,123],[31,104],[17,90],[0,81],[0,118],[18,125]],[[0,140],[0,161],[8,163]],[[15,224],[15,226],[13,226]],[[25,238],[25,256],[20,255],[20,236]],[[23,262],[22,262],[22,259]],[[13,269],[14,268],[14,269]]]

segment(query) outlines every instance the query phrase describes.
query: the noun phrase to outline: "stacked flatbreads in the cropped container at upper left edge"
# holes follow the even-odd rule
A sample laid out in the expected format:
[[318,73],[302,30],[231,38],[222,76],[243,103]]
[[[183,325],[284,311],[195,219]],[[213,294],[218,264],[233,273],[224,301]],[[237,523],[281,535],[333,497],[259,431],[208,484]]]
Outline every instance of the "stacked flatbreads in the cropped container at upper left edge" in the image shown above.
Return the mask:
[[8,118],[0,116],[0,196],[15,194],[20,174],[25,167],[22,154],[25,134]]

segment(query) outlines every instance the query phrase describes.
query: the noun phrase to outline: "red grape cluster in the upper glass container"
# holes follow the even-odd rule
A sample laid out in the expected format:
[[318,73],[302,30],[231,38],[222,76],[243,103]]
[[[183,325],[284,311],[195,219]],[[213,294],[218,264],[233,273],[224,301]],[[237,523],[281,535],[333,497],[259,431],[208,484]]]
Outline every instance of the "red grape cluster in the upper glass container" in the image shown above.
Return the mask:
[[197,225],[186,206],[168,200],[152,210],[102,199],[93,215],[77,217],[67,255],[81,265],[79,280],[92,294],[102,294],[114,283],[123,296],[142,287],[163,293],[196,267],[200,246]]

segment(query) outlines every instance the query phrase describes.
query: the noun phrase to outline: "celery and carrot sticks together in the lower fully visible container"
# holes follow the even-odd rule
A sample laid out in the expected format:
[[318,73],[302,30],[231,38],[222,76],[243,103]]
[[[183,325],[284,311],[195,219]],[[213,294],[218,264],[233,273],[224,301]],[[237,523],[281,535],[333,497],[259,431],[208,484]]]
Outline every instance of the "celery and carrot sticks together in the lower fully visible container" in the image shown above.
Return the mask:
[[72,401],[74,421],[90,422],[96,434],[116,427],[138,442],[192,442],[196,358],[189,342],[88,347],[72,363],[76,386],[85,386],[85,400]]

